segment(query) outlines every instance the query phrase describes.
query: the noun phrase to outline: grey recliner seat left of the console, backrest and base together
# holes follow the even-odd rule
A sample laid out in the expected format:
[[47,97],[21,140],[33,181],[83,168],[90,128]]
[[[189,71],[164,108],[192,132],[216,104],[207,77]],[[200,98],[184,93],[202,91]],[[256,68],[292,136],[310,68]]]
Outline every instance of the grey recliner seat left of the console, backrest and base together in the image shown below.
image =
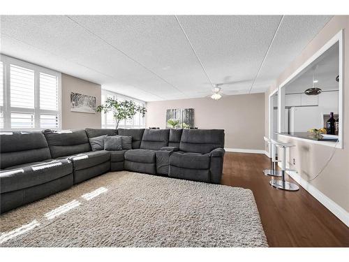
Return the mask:
[[125,152],[125,169],[156,174],[156,152],[168,146],[169,129],[145,129],[139,149]]

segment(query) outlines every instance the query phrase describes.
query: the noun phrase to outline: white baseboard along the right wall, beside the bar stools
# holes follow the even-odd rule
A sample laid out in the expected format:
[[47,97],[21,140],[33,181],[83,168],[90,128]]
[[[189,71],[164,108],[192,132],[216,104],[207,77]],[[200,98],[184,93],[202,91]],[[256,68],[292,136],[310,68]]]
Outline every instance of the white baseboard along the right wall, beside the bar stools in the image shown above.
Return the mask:
[[325,196],[319,189],[314,187],[308,181],[304,180],[298,173],[294,171],[287,171],[288,175],[292,177],[298,184],[300,184],[306,191],[316,198],[322,205],[331,211],[336,217],[338,217],[346,226],[349,226],[349,212],[341,208],[340,205],[332,201],[330,198]]

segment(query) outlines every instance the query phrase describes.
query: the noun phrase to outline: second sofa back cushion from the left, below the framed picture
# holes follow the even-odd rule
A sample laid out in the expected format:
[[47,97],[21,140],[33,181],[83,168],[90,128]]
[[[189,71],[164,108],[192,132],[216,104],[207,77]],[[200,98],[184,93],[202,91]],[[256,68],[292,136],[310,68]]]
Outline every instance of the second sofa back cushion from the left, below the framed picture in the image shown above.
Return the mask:
[[91,151],[89,138],[83,129],[47,132],[45,137],[53,159]]

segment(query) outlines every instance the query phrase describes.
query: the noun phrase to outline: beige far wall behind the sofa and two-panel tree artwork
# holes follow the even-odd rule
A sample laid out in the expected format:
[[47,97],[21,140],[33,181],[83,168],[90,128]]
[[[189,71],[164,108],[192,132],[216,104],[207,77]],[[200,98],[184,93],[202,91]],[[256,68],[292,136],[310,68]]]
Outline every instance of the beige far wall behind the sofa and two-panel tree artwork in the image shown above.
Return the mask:
[[147,103],[146,125],[165,128],[166,110],[194,108],[195,126],[225,129],[225,147],[264,150],[264,94],[156,101]]

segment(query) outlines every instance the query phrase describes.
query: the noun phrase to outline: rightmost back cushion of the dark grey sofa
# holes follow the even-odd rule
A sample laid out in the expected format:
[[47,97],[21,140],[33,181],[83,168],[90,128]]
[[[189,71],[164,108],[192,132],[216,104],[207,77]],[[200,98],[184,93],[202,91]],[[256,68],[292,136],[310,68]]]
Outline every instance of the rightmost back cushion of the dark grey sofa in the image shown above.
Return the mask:
[[179,150],[206,154],[224,148],[223,129],[183,129]]

